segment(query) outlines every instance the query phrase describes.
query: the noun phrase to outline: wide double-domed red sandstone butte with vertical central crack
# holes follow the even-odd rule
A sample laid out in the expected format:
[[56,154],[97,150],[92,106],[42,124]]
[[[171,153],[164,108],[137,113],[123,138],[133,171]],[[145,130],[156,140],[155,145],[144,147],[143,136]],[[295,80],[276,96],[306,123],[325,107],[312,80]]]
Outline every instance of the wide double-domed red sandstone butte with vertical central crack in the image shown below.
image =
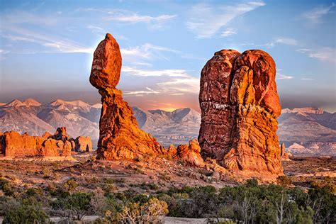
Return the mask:
[[203,67],[198,141],[232,170],[282,174],[275,62],[267,52],[221,50]]

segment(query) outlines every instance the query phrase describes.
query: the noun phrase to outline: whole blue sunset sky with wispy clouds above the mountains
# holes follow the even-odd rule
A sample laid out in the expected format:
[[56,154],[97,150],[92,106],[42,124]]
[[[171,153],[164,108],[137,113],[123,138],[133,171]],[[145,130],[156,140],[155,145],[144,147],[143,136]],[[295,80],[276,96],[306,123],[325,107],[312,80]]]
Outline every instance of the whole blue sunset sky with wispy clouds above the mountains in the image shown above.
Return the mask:
[[1,1],[0,101],[100,101],[92,54],[111,33],[132,106],[198,108],[202,67],[222,49],[276,62],[282,106],[336,111],[333,1]]

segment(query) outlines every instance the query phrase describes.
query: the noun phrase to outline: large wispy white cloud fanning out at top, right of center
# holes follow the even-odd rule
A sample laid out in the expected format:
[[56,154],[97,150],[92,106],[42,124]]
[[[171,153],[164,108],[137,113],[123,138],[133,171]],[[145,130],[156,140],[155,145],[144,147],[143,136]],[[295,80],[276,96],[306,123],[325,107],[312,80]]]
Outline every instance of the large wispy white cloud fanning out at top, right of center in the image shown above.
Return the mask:
[[211,38],[223,26],[228,25],[238,16],[264,6],[262,1],[250,1],[231,6],[210,6],[197,4],[189,11],[189,19],[186,27],[196,34],[196,38]]

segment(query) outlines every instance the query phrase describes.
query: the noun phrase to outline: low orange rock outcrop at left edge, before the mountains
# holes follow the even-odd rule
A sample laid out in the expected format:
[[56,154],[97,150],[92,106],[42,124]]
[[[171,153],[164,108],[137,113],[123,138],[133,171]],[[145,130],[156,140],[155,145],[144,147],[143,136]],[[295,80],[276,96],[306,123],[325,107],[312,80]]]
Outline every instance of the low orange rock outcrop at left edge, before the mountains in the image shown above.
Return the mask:
[[[91,147],[92,150],[90,138],[79,136],[77,140],[85,145],[86,149]],[[71,157],[76,147],[74,139],[67,135],[65,127],[57,128],[54,135],[50,133],[45,133],[43,136],[30,136],[28,133],[20,135],[13,130],[0,133],[0,145],[1,155],[4,157]]]

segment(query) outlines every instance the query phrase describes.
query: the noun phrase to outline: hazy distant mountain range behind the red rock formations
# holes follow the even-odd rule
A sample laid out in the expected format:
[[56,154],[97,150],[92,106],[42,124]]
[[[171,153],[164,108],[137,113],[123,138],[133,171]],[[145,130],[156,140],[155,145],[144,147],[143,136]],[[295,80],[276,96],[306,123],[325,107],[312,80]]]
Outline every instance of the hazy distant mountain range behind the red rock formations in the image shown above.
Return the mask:
[[[179,145],[197,138],[201,115],[192,108],[172,112],[144,111],[133,107],[139,127],[151,133],[164,146]],[[96,145],[99,138],[101,104],[83,101],[39,103],[34,99],[0,103],[0,131],[42,135],[60,126],[70,136],[89,135]],[[279,121],[279,142],[285,142],[294,155],[336,155],[336,113],[317,108],[285,108]]]

